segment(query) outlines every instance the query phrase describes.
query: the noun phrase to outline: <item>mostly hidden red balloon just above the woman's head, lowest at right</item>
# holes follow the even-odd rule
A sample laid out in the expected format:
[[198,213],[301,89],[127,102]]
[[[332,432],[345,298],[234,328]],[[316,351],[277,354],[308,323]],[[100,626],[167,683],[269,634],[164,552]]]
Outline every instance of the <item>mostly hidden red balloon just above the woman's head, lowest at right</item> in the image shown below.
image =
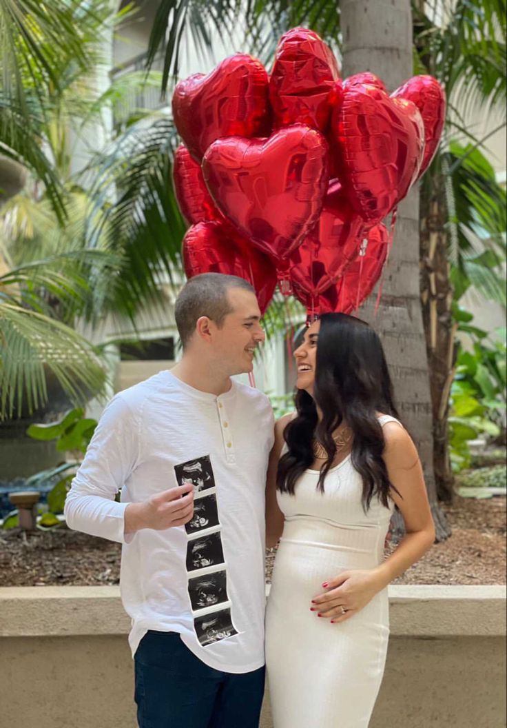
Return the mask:
[[372,227],[367,234],[367,245],[348,266],[338,282],[310,296],[294,285],[295,296],[306,306],[308,315],[342,312],[349,314],[359,308],[370,296],[386,263],[389,234],[382,223]]

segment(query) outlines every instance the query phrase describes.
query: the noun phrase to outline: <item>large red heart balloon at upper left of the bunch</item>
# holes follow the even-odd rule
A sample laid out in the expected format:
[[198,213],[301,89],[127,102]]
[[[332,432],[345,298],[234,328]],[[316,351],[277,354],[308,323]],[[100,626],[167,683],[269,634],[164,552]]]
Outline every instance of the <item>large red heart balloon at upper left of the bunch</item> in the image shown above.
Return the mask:
[[225,58],[207,76],[194,74],[177,84],[172,114],[197,162],[215,139],[266,136],[270,131],[266,68],[241,53]]

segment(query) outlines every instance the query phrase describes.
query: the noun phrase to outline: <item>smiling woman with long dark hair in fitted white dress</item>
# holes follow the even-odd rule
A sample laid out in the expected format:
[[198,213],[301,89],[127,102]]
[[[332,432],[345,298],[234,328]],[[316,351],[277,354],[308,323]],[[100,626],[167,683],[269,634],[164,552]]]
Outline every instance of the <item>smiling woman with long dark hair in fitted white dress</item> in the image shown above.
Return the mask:
[[[296,412],[276,423],[266,615],[274,728],[366,728],[388,644],[387,585],[434,542],[423,472],[376,333],[325,314],[296,349]],[[383,561],[394,507],[407,535]]]

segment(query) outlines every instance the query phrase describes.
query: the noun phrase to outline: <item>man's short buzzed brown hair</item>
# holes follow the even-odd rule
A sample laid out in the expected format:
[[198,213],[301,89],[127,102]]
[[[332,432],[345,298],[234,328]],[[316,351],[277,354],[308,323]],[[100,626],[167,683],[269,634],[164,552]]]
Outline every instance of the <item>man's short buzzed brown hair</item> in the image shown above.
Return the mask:
[[225,316],[232,311],[227,296],[230,288],[243,288],[255,295],[253,286],[236,275],[202,273],[185,283],[175,304],[177,331],[183,349],[190,341],[201,316],[207,316],[218,328],[223,325]]

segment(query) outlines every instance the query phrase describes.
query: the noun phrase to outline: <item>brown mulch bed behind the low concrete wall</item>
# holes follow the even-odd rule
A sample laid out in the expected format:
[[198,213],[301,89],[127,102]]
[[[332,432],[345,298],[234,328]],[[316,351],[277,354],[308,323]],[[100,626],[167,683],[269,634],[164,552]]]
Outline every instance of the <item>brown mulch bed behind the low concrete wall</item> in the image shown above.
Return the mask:
[[[452,536],[394,583],[505,584],[506,498],[456,496],[443,509]],[[118,584],[120,553],[119,544],[65,528],[0,531],[0,587]],[[268,581],[275,554],[274,549],[266,556]]]

